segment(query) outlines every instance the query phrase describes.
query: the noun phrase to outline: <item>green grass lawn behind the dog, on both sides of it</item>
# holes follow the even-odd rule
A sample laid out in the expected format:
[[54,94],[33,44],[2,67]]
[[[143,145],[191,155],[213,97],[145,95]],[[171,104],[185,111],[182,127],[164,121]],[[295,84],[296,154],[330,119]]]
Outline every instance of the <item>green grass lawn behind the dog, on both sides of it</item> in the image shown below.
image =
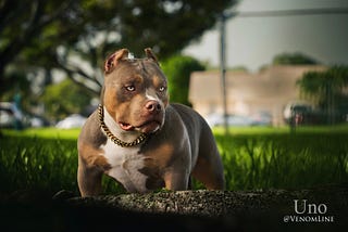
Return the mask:
[[[77,193],[79,130],[2,130],[0,192],[20,189]],[[348,126],[214,129],[228,190],[302,189],[348,180]],[[198,184],[199,185],[199,184]],[[198,186],[197,185],[197,186]],[[105,193],[122,188],[103,179]]]

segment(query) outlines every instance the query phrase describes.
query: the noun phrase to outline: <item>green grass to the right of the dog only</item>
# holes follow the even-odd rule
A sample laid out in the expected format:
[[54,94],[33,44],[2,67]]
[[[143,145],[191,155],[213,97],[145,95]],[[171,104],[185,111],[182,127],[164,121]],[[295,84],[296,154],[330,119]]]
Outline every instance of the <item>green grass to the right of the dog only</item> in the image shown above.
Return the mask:
[[227,189],[302,189],[348,179],[348,134],[216,136]]

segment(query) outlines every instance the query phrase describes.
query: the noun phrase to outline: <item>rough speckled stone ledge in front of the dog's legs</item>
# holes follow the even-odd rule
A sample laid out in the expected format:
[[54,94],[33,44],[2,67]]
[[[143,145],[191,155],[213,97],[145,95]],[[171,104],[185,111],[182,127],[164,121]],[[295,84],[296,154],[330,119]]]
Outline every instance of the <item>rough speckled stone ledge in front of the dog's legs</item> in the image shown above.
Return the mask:
[[295,199],[327,204],[332,211],[345,210],[348,208],[348,185],[298,191],[178,191],[74,197],[69,202],[73,205],[103,206],[139,212],[170,212],[216,218],[256,211],[294,214]]

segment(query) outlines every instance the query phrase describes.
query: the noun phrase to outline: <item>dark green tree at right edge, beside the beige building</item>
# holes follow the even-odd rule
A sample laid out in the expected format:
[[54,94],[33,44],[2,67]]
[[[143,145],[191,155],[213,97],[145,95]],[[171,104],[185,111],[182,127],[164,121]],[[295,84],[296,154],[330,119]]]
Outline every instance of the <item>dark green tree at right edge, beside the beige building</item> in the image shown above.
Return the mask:
[[308,72],[297,81],[304,99],[313,101],[327,115],[327,123],[335,123],[335,112],[348,113],[347,95],[348,67],[335,66],[325,72]]

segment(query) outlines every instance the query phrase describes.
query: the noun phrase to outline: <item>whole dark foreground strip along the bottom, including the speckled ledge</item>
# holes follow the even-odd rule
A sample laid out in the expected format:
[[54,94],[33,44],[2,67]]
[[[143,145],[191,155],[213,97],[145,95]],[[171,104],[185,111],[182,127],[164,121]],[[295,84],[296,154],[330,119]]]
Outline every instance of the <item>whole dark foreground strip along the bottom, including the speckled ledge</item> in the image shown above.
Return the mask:
[[[17,191],[2,198],[1,231],[346,231],[348,228],[348,184],[307,190],[198,190],[95,197],[76,197],[69,191],[60,191],[54,199],[42,193]],[[296,212],[294,201],[298,201],[303,214]],[[323,221],[326,218],[330,221]]]

